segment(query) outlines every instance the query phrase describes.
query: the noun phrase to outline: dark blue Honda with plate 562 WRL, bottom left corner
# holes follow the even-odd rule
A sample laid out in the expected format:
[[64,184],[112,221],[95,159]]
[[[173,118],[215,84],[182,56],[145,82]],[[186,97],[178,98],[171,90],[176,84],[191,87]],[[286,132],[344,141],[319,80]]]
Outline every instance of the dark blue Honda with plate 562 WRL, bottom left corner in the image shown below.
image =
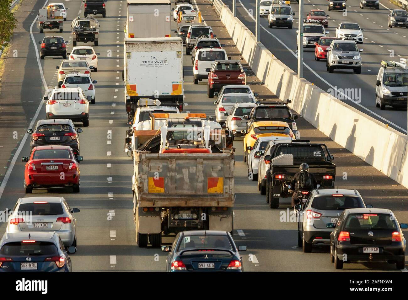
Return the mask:
[[71,272],[75,247],[65,251],[55,231],[4,233],[0,240],[1,272]]

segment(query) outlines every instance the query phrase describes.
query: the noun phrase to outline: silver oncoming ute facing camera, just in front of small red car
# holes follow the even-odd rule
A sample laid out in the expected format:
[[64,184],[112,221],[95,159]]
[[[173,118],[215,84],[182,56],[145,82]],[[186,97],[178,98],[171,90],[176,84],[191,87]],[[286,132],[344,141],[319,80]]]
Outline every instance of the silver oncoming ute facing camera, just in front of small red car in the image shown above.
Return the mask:
[[361,56],[363,49],[358,49],[354,41],[334,40],[327,48],[326,68],[329,73],[334,69],[352,69],[361,74]]

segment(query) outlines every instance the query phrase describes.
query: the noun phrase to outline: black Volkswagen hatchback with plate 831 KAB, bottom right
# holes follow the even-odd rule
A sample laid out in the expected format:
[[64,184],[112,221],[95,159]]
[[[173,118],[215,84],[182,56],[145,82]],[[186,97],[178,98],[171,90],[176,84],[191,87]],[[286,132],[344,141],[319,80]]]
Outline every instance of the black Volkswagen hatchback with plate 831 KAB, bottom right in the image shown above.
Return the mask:
[[397,269],[405,268],[405,238],[389,209],[346,209],[330,234],[330,260],[336,269],[343,269],[344,262],[396,263]]

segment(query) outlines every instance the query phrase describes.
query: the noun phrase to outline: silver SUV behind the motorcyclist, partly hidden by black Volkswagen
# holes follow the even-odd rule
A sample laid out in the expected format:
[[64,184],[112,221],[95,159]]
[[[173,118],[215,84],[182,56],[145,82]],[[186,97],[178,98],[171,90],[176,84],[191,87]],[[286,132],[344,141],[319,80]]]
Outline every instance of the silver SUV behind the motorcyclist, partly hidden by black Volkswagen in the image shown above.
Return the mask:
[[314,189],[304,204],[297,210],[297,245],[303,252],[311,252],[315,244],[330,244],[328,223],[337,223],[344,209],[373,207],[364,204],[357,190]]

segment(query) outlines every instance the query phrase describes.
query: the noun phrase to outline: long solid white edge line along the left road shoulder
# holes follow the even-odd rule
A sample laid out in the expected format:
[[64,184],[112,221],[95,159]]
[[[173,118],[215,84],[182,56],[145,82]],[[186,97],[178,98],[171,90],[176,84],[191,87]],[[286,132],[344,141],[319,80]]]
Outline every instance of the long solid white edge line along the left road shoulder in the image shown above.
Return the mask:
[[[48,0],[45,1],[43,7],[47,4],[47,2],[48,2]],[[34,45],[36,45],[36,42],[35,42],[35,40],[34,40],[34,35],[33,35],[33,26],[34,26],[34,23],[35,23],[35,21],[37,20],[37,18],[38,18],[38,16],[36,16],[36,17],[34,18],[34,21],[31,23],[31,26],[30,26],[31,40],[33,41],[33,44],[34,44]],[[42,72],[42,67],[41,67],[41,62],[40,62],[40,56],[38,55],[38,49],[37,49],[37,47],[34,47],[34,50],[35,50],[35,55],[37,56],[38,69],[39,69],[39,71],[40,71],[40,76],[41,76],[42,84],[44,85],[44,89],[45,89],[46,91],[48,91],[47,81],[45,81],[44,73]],[[34,114],[34,116],[33,116],[33,119],[31,120],[31,122],[30,122],[30,124],[29,124],[29,128],[33,128],[33,127],[34,127],[34,122],[35,122],[35,120],[38,118],[38,115],[40,114],[40,111],[41,111],[41,108],[42,108],[42,105],[43,105],[43,104],[44,104],[44,100],[41,100],[41,101],[40,101],[40,104],[38,104],[37,110],[35,111],[35,114]],[[4,175],[3,181],[2,181],[2,183],[1,183],[1,185],[0,185],[0,199],[1,199],[1,196],[3,195],[4,189],[6,188],[6,184],[7,184],[7,182],[9,181],[9,178],[10,178],[10,176],[11,176],[11,171],[13,171],[13,167],[14,167],[14,165],[16,164],[17,158],[20,156],[20,152],[21,152],[21,150],[23,149],[24,144],[25,144],[25,142],[27,141],[28,136],[29,136],[28,133],[25,133],[25,134],[24,134],[24,136],[23,136],[23,138],[22,138],[22,140],[21,140],[21,142],[20,142],[20,145],[19,145],[18,148],[17,148],[17,151],[16,151],[16,153],[14,153],[14,157],[13,157],[13,159],[12,159],[11,162],[10,162],[10,165],[9,165],[9,168],[7,169],[6,175]]]

